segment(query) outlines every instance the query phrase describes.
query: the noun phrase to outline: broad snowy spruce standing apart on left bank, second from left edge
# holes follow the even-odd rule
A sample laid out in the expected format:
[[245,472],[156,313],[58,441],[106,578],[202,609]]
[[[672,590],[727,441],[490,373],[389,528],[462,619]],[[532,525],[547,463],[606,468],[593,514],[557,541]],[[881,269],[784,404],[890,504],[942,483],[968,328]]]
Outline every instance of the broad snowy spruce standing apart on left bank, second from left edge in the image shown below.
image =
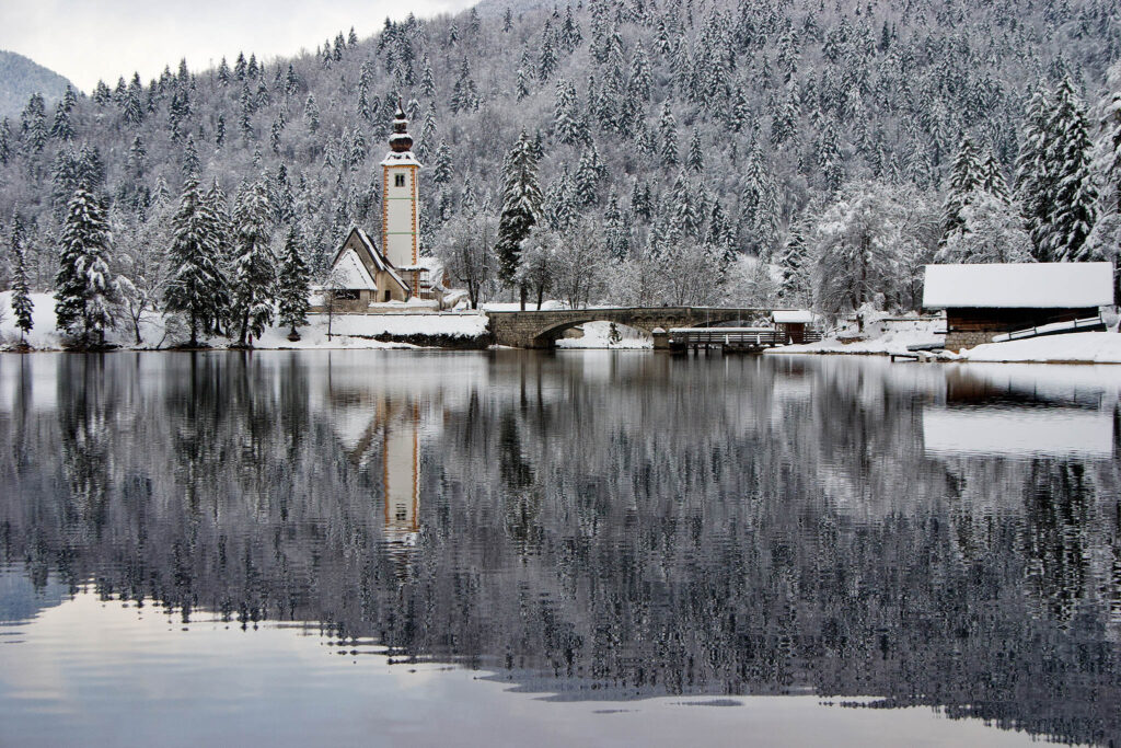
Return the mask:
[[113,306],[120,301],[117,280],[109,269],[111,241],[101,201],[78,187],[63,223],[55,315],[58,326],[75,335],[83,348],[104,344],[105,330],[113,324]]

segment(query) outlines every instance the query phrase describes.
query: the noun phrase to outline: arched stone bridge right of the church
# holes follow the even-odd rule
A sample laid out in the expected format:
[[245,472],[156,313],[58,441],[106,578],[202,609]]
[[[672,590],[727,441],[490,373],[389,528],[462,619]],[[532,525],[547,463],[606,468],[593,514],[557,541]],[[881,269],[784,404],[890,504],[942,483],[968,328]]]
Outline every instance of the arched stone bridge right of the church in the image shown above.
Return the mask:
[[707,327],[726,323],[759,324],[770,310],[705,306],[634,306],[546,312],[488,312],[499,345],[553,348],[565,330],[585,322],[614,322],[652,334],[655,327]]

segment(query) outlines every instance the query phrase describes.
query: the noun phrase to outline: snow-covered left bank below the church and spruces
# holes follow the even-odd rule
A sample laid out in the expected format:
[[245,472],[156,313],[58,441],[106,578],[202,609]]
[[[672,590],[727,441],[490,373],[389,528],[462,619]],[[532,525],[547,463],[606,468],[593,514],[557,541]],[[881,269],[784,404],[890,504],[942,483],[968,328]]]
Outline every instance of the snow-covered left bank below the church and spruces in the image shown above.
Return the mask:
[[[27,336],[27,342],[37,350],[62,350],[63,335],[55,325],[55,299],[50,294],[31,294],[35,304],[33,312],[34,327]],[[405,338],[409,335],[430,335],[447,338],[478,338],[487,332],[487,316],[475,313],[442,313],[442,314],[337,314],[331,322],[331,339],[327,339],[327,316],[325,314],[308,315],[309,324],[299,327],[300,340],[290,342],[288,329],[272,326],[253,341],[259,349],[270,348],[413,348],[404,342],[380,342],[372,340],[378,335]],[[121,321],[117,330],[106,338],[109,342],[122,348],[167,348],[183,342],[184,335],[169,334],[165,321],[159,315],[146,315],[140,325],[143,343],[135,344],[132,326],[128,320]],[[0,347],[10,347],[19,342],[19,330],[16,329],[16,315],[11,310],[11,292],[0,293]],[[215,338],[209,343],[214,348],[229,345],[225,338]]]

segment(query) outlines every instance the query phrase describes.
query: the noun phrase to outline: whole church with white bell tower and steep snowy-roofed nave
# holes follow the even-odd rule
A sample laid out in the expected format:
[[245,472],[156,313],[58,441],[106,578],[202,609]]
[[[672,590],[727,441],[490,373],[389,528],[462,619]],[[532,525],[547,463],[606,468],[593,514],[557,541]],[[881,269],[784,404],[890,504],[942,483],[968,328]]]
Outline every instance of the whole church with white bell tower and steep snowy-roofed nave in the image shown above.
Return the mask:
[[380,248],[362,229],[351,229],[324,289],[335,312],[377,312],[382,304],[418,301],[441,306],[446,292],[438,262],[420,257],[420,161],[400,102],[389,148],[381,161]]

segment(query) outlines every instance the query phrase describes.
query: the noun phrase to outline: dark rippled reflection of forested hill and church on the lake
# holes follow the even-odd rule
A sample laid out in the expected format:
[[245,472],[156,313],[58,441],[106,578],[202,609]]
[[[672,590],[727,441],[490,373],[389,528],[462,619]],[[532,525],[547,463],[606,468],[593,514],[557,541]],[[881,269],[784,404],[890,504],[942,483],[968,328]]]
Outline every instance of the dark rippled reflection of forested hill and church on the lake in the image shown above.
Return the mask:
[[2,357],[0,421],[0,551],[30,580],[560,698],[1119,735],[1118,385],[1090,369]]

